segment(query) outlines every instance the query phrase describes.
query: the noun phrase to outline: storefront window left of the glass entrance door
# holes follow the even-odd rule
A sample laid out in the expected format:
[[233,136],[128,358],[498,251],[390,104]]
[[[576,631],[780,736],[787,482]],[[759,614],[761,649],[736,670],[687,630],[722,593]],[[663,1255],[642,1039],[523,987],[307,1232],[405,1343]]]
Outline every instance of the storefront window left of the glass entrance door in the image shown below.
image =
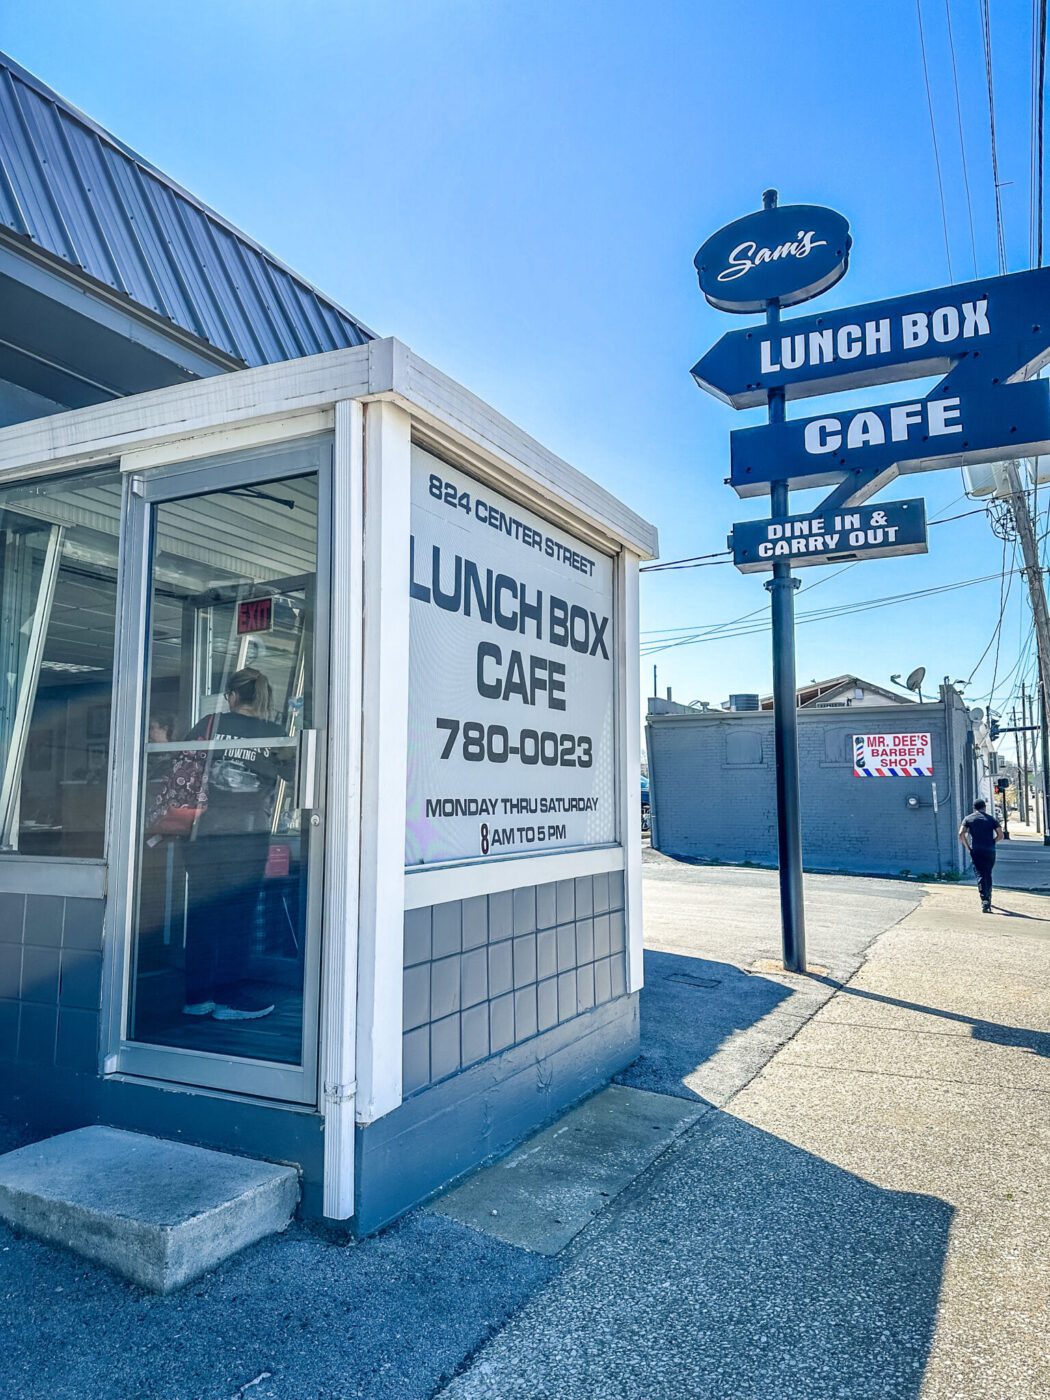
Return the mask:
[[120,473],[0,489],[0,851],[101,857]]

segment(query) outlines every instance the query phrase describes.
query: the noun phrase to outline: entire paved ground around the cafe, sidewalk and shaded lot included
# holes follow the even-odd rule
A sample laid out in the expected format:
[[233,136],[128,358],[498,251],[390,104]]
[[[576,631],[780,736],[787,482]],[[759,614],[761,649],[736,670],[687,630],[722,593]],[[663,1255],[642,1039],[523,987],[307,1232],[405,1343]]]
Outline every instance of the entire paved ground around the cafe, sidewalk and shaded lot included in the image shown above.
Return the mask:
[[826,970],[790,977],[776,899],[774,872],[647,854],[643,1054],[606,1092],[696,1112],[557,1253],[437,1203],[360,1245],[294,1225],[157,1298],[4,1229],[0,1392],[1046,1394],[1050,907],[809,876]]

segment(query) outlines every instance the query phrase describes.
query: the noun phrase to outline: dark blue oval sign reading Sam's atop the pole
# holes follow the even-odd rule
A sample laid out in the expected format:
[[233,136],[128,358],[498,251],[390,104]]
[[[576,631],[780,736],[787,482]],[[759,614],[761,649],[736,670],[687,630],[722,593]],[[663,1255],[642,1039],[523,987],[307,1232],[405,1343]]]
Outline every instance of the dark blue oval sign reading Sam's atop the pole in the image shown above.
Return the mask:
[[700,290],[720,311],[797,307],[846,272],[850,225],[820,204],[777,204],[711,234],[693,259]]

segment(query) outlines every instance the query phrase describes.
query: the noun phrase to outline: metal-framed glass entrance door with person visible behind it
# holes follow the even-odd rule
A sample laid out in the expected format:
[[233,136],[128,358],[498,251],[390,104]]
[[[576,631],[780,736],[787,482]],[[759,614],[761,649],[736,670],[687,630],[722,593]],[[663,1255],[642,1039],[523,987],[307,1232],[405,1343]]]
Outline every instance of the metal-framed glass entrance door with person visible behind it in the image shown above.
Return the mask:
[[144,479],[147,673],[120,1068],[308,1102],[326,476],[265,465]]

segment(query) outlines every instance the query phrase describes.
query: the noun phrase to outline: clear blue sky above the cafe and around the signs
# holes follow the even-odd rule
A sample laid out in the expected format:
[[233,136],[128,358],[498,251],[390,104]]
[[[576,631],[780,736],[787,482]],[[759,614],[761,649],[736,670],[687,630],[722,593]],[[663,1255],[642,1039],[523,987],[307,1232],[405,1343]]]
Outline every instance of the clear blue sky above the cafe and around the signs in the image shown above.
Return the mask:
[[[951,0],[979,274],[997,272],[977,0]],[[942,0],[923,0],[955,280],[974,276]],[[991,0],[1009,270],[1029,265],[1030,6]],[[728,433],[759,421],[689,367],[746,323],[703,301],[699,244],[760,203],[827,203],[853,262],[823,305],[949,280],[913,0],[41,0],[8,8],[4,48],[127,144],[325,288],[398,335],[661,532],[665,559],[724,549],[764,514],[722,484]],[[913,386],[914,388],[914,386]],[[909,393],[881,389],[881,402]],[[815,412],[808,400],[799,412]],[[958,472],[911,477],[930,515],[973,508]],[[1050,503],[1050,487],[1046,489]],[[794,500],[805,508],[812,496]],[[927,556],[802,574],[808,608],[998,574],[983,514],[931,531]],[[641,626],[764,620],[759,575],[643,580]],[[799,679],[885,682],[923,664],[969,676],[998,578],[798,630]],[[1026,603],[967,694],[1026,661]],[[769,633],[647,658],[661,692],[718,704],[770,687]],[[651,669],[644,672],[651,687]]]

